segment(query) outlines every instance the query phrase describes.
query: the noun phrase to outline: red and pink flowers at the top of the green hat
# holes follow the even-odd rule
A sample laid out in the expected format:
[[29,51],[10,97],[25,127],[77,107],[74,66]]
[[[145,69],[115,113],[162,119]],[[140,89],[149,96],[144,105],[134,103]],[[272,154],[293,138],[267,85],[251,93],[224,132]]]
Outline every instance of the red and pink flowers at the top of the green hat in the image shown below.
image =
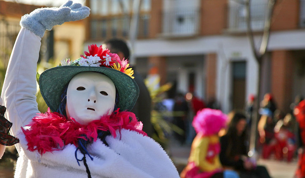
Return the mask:
[[[100,67],[102,66],[110,67],[113,66],[115,62],[120,61],[120,58],[117,54],[110,53],[109,49],[106,48],[103,49],[102,45],[99,47],[97,47],[96,44],[89,45],[88,50],[89,52],[84,51],[87,57],[94,56],[97,54],[97,56],[101,59],[99,61],[101,63]],[[106,59],[109,59],[107,58],[108,56],[111,58],[109,62],[106,61]],[[87,58],[83,55],[80,55],[80,57]]]

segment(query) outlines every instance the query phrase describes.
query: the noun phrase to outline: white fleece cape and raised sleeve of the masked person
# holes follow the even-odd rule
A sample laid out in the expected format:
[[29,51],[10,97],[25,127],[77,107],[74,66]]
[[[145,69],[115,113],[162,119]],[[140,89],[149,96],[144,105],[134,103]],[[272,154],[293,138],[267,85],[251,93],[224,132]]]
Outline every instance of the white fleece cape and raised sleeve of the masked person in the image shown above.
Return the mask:
[[[41,38],[21,28],[8,63],[1,97],[7,107],[6,118],[13,123],[10,134],[19,138],[19,158],[15,178],[78,178],[87,177],[83,162],[74,156],[74,145],[61,151],[45,153],[27,150],[20,127],[29,124],[39,113],[36,102],[36,68]],[[94,160],[86,156],[92,177],[179,177],[165,151],[154,140],[133,131],[122,130],[122,138],[106,137],[109,147],[96,141],[87,147]],[[79,159],[82,154],[78,152]]]

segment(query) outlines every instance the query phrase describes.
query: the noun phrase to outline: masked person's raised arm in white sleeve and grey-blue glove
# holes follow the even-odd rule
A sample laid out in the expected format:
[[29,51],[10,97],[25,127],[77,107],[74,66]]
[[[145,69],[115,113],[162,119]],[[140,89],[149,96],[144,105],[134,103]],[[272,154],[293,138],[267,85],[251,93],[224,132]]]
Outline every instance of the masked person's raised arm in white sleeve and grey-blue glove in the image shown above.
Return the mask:
[[13,136],[39,112],[35,96],[36,69],[40,40],[45,30],[64,22],[83,19],[89,13],[88,7],[67,1],[61,7],[39,8],[21,18],[22,28],[13,47],[2,89],[7,118],[13,122]]

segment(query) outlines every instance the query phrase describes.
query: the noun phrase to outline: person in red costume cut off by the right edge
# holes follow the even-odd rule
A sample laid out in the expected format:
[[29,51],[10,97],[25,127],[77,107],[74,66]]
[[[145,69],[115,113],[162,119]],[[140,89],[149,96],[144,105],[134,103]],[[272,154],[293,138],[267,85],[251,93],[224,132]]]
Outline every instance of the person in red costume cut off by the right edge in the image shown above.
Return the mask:
[[293,111],[298,126],[299,133],[299,149],[298,149],[298,163],[297,163],[297,171],[295,173],[296,178],[304,178],[305,177],[305,100],[299,102],[299,104],[295,107]]

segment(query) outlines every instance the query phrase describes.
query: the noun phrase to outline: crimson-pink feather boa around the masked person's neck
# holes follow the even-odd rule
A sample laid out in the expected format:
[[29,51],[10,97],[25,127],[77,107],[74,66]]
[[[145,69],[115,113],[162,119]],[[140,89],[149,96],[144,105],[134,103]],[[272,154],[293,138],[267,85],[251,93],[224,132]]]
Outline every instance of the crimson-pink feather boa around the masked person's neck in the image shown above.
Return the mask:
[[28,150],[37,150],[41,155],[45,152],[62,150],[65,145],[73,144],[78,147],[77,139],[84,138],[84,135],[90,141],[96,141],[98,130],[110,131],[115,138],[116,130],[129,129],[136,131],[144,136],[147,134],[142,131],[142,122],[138,122],[135,114],[128,111],[119,112],[117,109],[111,115],[101,116],[99,120],[82,125],[73,118],[68,120],[58,112],[51,112],[50,108],[45,113],[40,113],[33,117],[33,121],[27,126],[30,129],[22,129],[26,140],[28,141]]

